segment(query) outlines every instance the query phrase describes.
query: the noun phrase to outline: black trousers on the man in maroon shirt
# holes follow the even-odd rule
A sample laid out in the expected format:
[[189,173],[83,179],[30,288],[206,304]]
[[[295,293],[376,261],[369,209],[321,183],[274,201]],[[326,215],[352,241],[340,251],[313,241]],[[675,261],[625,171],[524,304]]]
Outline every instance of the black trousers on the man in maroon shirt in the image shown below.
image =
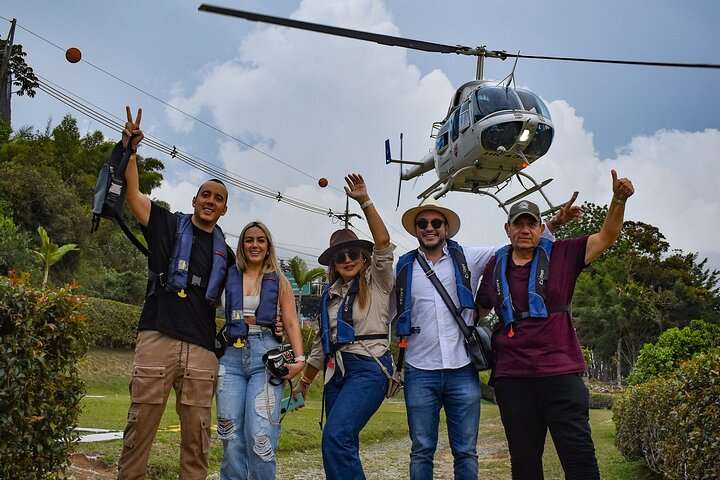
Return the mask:
[[501,377],[495,396],[510,449],[513,480],[542,480],[548,429],[567,480],[600,479],[590,436],[587,387],[578,374]]

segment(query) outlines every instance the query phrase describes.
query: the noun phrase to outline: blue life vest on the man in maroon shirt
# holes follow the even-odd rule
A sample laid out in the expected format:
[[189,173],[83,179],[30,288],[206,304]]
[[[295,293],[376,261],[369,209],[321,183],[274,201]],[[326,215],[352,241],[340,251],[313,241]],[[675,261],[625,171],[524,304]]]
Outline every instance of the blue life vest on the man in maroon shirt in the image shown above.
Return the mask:
[[[495,269],[493,270],[493,284],[501,305],[500,317],[507,326],[516,320],[529,317],[546,318],[548,308],[545,306],[545,285],[550,279],[550,253],[552,242],[541,238],[533,253],[530,264],[530,277],[528,278],[528,312],[515,312],[510,295],[510,286],[507,281],[507,265],[512,248],[506,245],[495,252]],[[569,306],[551,308],[550,312],[568,311]]]

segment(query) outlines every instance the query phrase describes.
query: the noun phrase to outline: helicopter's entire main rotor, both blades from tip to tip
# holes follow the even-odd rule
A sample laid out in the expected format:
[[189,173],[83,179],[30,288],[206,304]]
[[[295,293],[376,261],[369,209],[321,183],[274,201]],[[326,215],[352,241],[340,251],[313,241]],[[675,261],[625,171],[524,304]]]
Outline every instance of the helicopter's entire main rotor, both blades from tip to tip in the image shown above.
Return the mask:
[[477,57],[499,58],[501,60],[505,60],[507,58],[527,58],[532,60],[609,63],[616,65],[641,65],[646,67],[720,68],[720,64],[713,63],[646,62],[636,60],[612,60],[600,58],[557,57],[549,55],[525,55],[520,53],[508,53],[505,50],[488,50],[485,46],[467,47],[464,45],[445,45],[442,43],[425,42],[423,40],[394,37],[391,35],[383,35],[380,33],[361,32],[359,30],[352,30],[349,28],[332,27],[319,23],[303,22],[301,20],[292,20],[289,18],[262,15],[259,13],[247,12],[244,10],[235,10],[232,8],[207,5],[205,3],[200,5],[200,7],[198,7],[198,10],[200,10],[201,12],[209,12],[230,17],[244,18],[245,20],[250,20],[254,22],[263,22],[273,25],[280,25],[283,27],[299,28],[301,30],[309,30],[312,32],[325,33],[328,35],[354,38],[356,40],[364,40],[366,42],[374,42],[381,45],[389,45],[392,47],[403,47],[413,50],[422,50],[425,52],[455,53],[458,55],[473,55]]

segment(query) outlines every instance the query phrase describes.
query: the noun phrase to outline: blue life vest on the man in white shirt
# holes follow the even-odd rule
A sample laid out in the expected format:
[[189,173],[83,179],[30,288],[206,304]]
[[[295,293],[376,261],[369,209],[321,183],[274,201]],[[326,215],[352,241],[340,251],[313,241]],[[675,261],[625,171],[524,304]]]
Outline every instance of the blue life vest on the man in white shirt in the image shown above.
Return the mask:
[[[475,308],[475,299],[470,288],[470,269],[467,266],[465,253],[460,244],[454,240],[446,240],[446,243],[455,269],[455,286],[460,300],[460,311],[466,308]],[[417,249],[406,253],[400,257],[395,267],[395,300],[397,305],[395,333],[398,336],[406,336],[412,333],[410,303],[412,299],[413,264],[417,254]]]

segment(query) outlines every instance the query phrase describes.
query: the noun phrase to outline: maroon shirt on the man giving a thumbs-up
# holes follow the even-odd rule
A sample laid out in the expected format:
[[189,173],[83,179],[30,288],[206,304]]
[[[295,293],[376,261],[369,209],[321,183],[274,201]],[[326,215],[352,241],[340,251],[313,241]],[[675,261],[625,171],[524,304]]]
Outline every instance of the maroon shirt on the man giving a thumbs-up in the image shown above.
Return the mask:
[[[570,305],[577,277],[585,268],[585,247],[588,237],[560,240],[553,243],[550,255],[550,279],[546,283],[545,305]],[[475,303],[482,308],[495,308],[500,315],[500,300],[493,285],[493,257],[485,267]],[[530,264],[518,266],[508,259],[507,277],[513,307],[527,312],[527,285]],[[495,378],[547,377],[585,371],[585,359],[569,312],[551,313],[546,318],[527,318],[513,324],[514,336],[508,336],[504,325],[496,329]]]

